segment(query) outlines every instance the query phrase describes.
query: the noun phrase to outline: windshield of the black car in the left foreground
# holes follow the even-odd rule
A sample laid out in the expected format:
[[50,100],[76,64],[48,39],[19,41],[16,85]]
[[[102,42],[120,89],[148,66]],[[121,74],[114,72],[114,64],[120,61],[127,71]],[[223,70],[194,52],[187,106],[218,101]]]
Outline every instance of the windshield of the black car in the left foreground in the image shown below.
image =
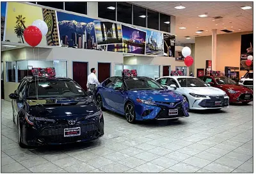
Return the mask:
[[74,81],[44,80],[39,81],[39,83],[33,81],[29,84],[28,97],[36,97],[36,90],[38,90],[38,98],[87,96]]

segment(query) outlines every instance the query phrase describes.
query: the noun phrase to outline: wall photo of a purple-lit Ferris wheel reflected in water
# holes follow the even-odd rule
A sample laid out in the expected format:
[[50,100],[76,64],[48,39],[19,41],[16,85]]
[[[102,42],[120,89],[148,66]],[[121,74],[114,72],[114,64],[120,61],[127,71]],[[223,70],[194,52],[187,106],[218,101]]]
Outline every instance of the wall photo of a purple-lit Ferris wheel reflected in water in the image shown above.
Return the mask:
[[123,43],[108,45],[108,51],[145,54],[147,32],[122,25]]

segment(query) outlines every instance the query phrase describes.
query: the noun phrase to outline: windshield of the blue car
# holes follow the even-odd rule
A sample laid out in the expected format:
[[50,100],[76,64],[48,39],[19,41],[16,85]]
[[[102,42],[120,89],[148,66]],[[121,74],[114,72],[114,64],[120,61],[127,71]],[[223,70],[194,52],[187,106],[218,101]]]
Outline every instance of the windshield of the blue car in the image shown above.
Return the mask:
[[125,84],[129,90],[164,90],[163,86],[152,79],[125,79]]

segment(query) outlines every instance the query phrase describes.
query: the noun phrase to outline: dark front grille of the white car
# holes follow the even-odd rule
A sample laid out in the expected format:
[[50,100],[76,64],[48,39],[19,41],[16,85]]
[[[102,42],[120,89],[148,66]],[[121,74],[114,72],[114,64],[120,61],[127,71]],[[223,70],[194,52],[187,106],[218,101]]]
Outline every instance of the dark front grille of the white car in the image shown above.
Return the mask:
[[[228,106],[228,99],[224,99],[223,95],[211,95],[209,96],[211,99],[204,99],[199,103],[201,107],[227,107]],[[215,106],[215,102],[221,102],[219,106]]]

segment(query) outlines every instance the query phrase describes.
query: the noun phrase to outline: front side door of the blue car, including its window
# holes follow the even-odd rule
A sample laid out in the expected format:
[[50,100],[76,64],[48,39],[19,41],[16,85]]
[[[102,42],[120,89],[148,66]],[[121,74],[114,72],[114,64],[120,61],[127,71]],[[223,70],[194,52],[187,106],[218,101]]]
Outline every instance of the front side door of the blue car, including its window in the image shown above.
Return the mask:
[[124,81],[122,81],[122,79],[116,78],[116,81],[113,84],[113,91],[111,96],[114,103],[113,107],[116,109],[116,111],[118,111],[118,113],[124,113],[124,89]]

